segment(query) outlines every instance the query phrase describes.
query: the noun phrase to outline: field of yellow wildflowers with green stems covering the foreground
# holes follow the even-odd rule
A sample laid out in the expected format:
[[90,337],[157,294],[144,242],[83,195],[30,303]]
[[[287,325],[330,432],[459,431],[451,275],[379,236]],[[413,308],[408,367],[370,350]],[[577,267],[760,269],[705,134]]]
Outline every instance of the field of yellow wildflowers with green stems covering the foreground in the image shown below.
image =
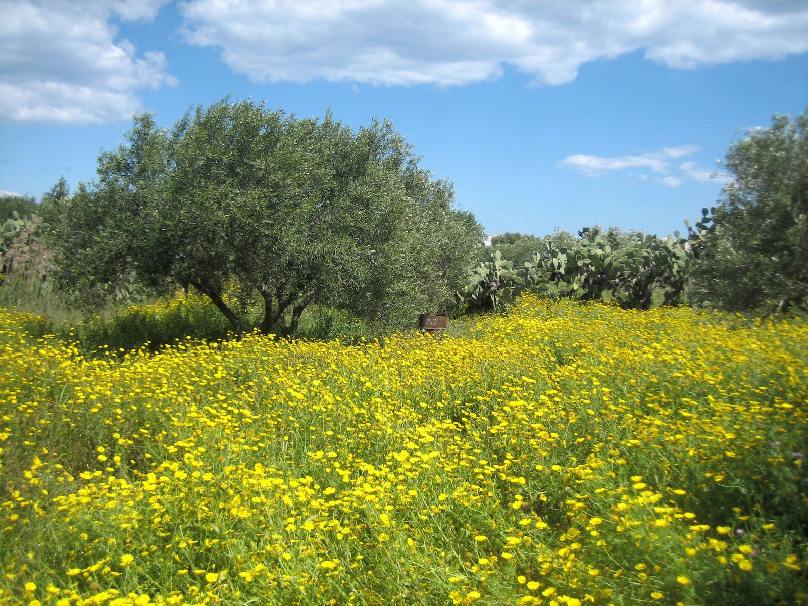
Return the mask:
[[808,603],[805,321],[524,297],[93,357],[36,322],[0,312],[2,603]]

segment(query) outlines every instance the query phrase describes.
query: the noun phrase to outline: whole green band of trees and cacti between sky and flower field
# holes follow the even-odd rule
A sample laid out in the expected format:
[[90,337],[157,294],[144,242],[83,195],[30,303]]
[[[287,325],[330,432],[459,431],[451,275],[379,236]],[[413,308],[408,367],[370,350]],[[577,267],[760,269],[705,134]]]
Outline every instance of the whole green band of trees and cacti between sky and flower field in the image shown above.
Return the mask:
[[[54,280],[74,301],[207,296],[234,332],[256,301],[264,332],[293,336],[312,303],[387,326],[415,314],[505,307],[521,292],[624,307],[808,307],[808,111],[774,116],[723,162],[733,180],[687,234],[585,227],[538,238],[454,207],[387,121],[353,130],[223,99],[173,128],[138,115],[71,195],[0,196],[2,276]],[[16,276],[16,277],[15,277]],[[140,291],[138,290],[140,289]]]

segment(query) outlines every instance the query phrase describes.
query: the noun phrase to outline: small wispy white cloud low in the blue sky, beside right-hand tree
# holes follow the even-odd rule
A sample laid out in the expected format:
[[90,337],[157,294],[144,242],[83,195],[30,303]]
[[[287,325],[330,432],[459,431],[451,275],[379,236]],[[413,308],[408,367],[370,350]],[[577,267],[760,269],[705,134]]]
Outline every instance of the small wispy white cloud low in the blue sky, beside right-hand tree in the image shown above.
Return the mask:
[[[604,156],[593,156],[589,154],[573,154],[567,156],[558,166],[569,168],[587,177],[600,177],[613,170],[624,170],[628,168],[651,171],[647,173],[632,171],[629,177],[653,183],[659,183],[665,187],[679,187],[687,179],[692,179],[699,183],[714,181],[717,183],[729,183],[730,178],[726,175],[717,175],[715,172],[705,170],[696,166],[696,162],[688,160],[681,162],[678,166],[671,166],[671,160],[695,154],[701,148],[698,145],[680,145],[680,147],[664,147],[659,151],[650,151],[637,156],[617,156],[607,158]],[[675,172],[675,175],[671,175]],[[653,176],[653,178],[650,178]]]

